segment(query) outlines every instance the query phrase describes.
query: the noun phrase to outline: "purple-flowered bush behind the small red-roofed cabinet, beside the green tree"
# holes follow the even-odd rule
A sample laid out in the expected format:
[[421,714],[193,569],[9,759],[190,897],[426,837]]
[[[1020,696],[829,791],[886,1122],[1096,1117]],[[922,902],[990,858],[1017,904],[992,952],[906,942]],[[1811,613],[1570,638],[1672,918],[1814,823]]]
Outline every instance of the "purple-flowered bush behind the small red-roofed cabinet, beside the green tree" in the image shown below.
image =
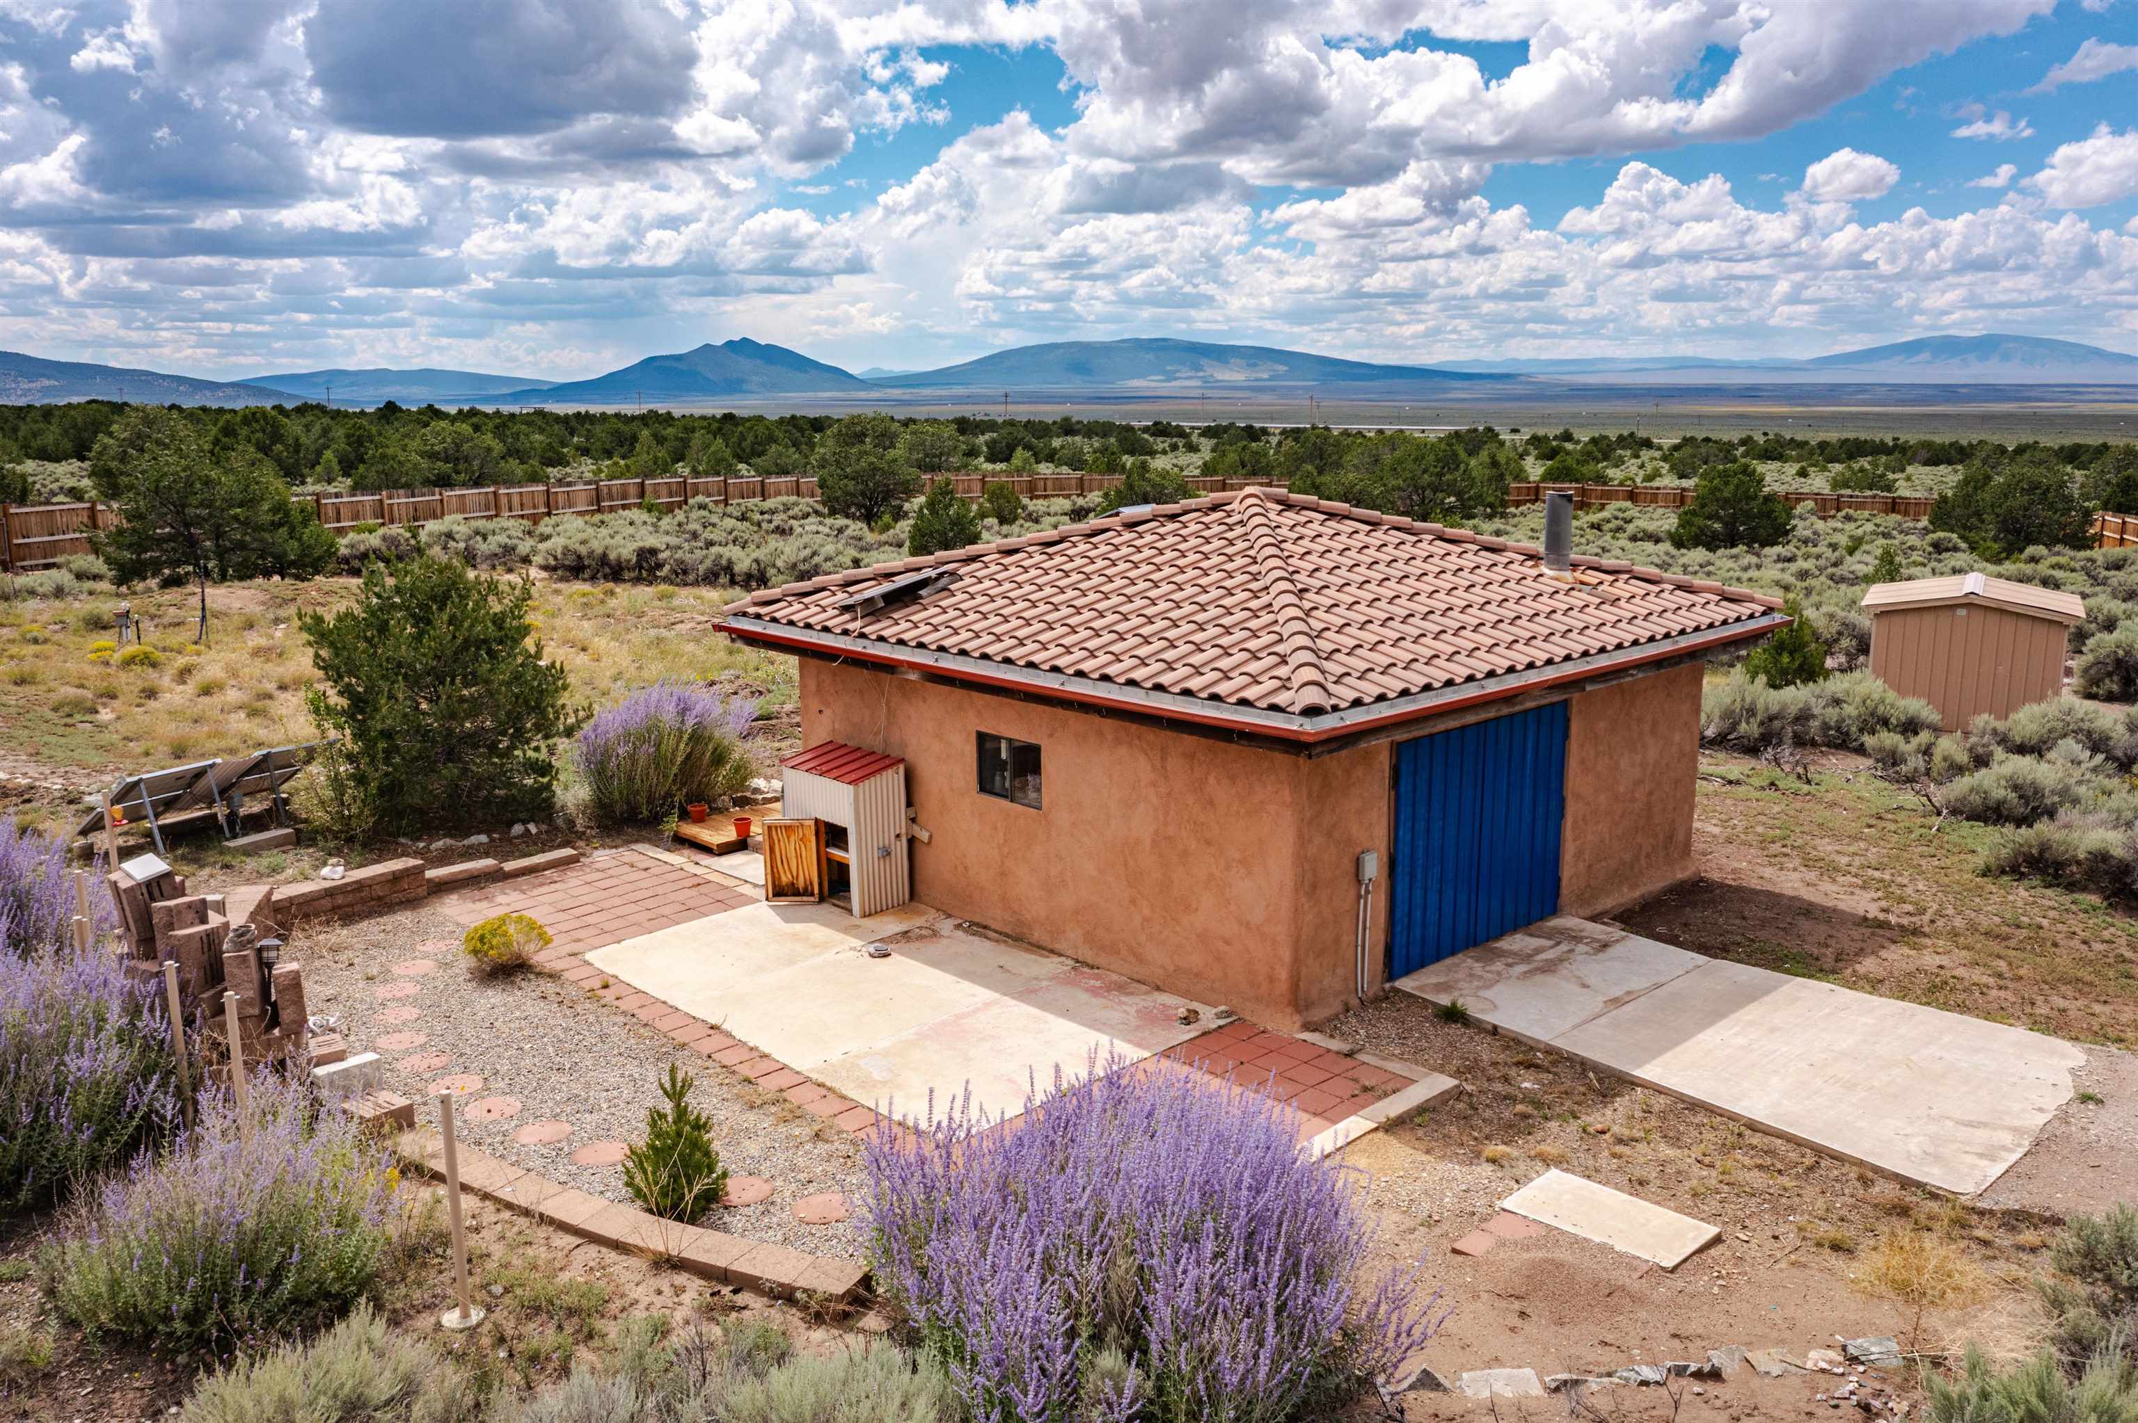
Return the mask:
[[697,682],[656,682],[579,729],[573,765],[601,820],[661,820],[757,773],[742,733],[757,707]]

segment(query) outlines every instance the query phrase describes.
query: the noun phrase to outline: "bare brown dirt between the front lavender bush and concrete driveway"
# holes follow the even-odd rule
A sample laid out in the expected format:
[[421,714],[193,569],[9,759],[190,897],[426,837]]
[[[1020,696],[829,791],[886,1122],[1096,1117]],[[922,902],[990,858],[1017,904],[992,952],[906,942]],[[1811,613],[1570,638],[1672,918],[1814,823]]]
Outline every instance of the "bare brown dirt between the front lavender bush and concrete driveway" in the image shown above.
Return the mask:
[[[1997,1355],[2029,1348],[2035,1316],[2027,1280],[2048,1226],[1903,1188],[1794,1143],[1764,1137],[1676,1098],[1524,1047],[1488,1028],[1450,1023],[1428,1004],[1390,996],[1326,1028],[1332,1036],[1432,1066],[1465,1090],[1347,1150],[1379,1214],[1377,1252],[1422,1263],[1452,1305],[1424,1363],[1450,1382],[1486,1367],[1608,1374],[1631,1363],[1704,1359],[1710,1348],[1837,1348],[1839,1338],[1894,1335],[1937,1350],[1976,1340]],[[1556,1229],[1501,1241],[1484,1256],[1452,1254],[1497,1203],[1561,1167],[1721,1229],[1721,1239],[1674,1271]],[[1965,1310],[1914,1312],[1864,1284],[1879,1241],[1931,1233],[1963,1256],[1976,1299]],[[1888,1382],[1911,1391],[1903,1370]],[[1672,1402],[1661,1389],[1612,1389],[1597,1406],[1668,1417],[1674,1406],[1732,1417],[1824,1408],[1839,1385],[1822,1374],[1693,1380]],[[1561,1412],[1561,1399],[1529,1399]],[[1486,1412],[1488,1404],[1407,1395],[1411,1417]],[[1501,1399],[1505,1414],[1514,1408]]]

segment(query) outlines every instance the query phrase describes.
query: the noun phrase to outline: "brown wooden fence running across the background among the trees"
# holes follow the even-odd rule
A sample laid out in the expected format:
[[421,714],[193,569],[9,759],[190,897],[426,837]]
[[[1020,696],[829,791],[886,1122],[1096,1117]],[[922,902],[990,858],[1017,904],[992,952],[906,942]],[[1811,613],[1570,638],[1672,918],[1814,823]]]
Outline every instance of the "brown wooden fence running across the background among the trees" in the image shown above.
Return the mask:
[[[977,500],[992,483],[1007,483],[1018,498],[1050,500],[1080,494],[1103,494],[1120,483],[1120,474],[951,474],[958,494]],[[1221,479],[1189,474],[1191,489],[1221,494],[1251,483],[1283,487],[1283,479]],[[1546,494],[1571,494],[1576,509],[1610,504],[1646,504],[1683,509],[1693,500],[1689,485],[1544,485],[1535,481],[1507,485],[1509,504],[1535,504]],[[808,474],[789,479],[599,479],[569,485],[490,485],[485,489],[376,489],[370,494],[293,494],[310,504],[321,528],[340,536],[366,523],[423,528],[438,519],[524,519],[541,523],[558,515],[603,515],[620,509],[682,509],[691,500],[744,504],[750,500],[817,498],[817,481]],[[1783,494],[1790,502],[1809,502],[1817,513],[1886,513],[1903,519],[1928,519],[1931,498],[1903,494]],[[75,553],[90,553],[90,534],[111,528],[109,504],[0,504],[0,568],[26,573],[51,568]],[[2125,519],[2129,532],[2125,534]],[[2108,547],[2104,521],[2114,521],[2112,545],[2138,545],[2138,515],[2097,515],[2095,541]]]

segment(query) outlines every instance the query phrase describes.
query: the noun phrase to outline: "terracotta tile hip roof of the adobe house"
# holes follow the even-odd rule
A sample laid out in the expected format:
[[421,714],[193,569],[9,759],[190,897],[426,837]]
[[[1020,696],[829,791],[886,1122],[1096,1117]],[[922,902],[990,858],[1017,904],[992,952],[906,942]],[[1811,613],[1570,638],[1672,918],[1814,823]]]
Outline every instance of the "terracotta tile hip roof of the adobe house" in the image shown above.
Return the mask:
[[[956,577],[917,600],[842,607],[921,568]],[[1640,652],[1777,607],[1582,556],[1571,579],[1554,579],[1529,545],[1246,489],[832,573],[750,594],[727,615],[1317,716]]]

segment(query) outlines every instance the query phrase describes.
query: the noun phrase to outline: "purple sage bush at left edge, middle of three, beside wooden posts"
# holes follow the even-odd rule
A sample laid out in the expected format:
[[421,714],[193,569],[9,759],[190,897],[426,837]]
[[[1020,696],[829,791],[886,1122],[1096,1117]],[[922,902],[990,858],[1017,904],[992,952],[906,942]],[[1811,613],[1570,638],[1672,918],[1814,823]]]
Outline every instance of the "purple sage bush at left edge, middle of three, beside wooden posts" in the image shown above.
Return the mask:
[[0,1216],[51,1205],[177,1115],[158,994],[105,947],[0,953]]

